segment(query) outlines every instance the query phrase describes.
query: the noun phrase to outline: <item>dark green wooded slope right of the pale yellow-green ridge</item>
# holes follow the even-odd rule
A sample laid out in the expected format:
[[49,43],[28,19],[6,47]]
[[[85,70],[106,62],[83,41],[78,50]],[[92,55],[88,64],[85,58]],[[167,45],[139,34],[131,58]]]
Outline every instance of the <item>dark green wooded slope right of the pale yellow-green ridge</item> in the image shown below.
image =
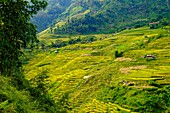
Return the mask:
[[[79,5],[83,7],[82,2]],[[81,19],[70,18],[63,27],[55,29],[54,33],[116,32],[127,26],[140,27],[170,17],[167,2],[161,0],[108,0],[85,3],[83,4],[91,11],[89,14]],[[93,8],[95,6],[97,8]]]

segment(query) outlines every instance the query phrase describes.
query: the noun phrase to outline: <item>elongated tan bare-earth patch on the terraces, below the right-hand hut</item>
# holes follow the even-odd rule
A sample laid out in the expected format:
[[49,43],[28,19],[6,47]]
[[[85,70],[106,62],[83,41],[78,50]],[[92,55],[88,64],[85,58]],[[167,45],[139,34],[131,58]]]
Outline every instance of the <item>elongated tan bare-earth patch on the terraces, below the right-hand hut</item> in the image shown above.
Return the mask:
[[141,70],[141,69],[145,69],[145,68],[147,68],[147,66],[134,66],[134,67],[127,67],[127,68],[120,68],[120,71],[123,74],[127,74],[131,70]]

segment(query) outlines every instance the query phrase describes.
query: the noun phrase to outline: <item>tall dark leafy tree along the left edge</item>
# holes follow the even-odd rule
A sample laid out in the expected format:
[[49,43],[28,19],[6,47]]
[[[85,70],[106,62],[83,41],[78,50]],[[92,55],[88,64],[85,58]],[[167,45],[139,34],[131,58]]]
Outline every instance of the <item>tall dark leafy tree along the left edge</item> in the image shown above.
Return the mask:
[[22,48],[37,41],[36,26],[29,20],[46,5],[45,0],[0,0],[0,75],[18,72]]

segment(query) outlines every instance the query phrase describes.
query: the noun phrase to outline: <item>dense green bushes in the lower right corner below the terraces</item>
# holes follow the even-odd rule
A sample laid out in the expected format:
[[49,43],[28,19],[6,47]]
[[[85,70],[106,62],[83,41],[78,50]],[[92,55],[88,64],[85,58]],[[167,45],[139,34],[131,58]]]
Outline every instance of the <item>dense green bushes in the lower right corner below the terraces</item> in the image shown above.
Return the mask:
[[[114,89],[104,89],[99,94],[98,99],[105,102],[116,102],[120,105],[126,104],[128,108],[135,112],[161,113],[169,107],[169,91],[168,87],[158,91],[137,91],[116,86]],[[165,98],[168,98],[168,100]]]

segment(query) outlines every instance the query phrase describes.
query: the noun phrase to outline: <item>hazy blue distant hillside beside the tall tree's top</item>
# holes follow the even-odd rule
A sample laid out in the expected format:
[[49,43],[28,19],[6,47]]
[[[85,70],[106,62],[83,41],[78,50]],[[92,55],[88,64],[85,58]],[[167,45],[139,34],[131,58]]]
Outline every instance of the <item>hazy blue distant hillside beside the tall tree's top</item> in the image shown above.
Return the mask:
[[38,32],[48,28],[54,23],[56,18],[63,13],[71,4],[71,0],[48,0],[45,11],[40,11],[32,18],[32,22],[37,25]]

